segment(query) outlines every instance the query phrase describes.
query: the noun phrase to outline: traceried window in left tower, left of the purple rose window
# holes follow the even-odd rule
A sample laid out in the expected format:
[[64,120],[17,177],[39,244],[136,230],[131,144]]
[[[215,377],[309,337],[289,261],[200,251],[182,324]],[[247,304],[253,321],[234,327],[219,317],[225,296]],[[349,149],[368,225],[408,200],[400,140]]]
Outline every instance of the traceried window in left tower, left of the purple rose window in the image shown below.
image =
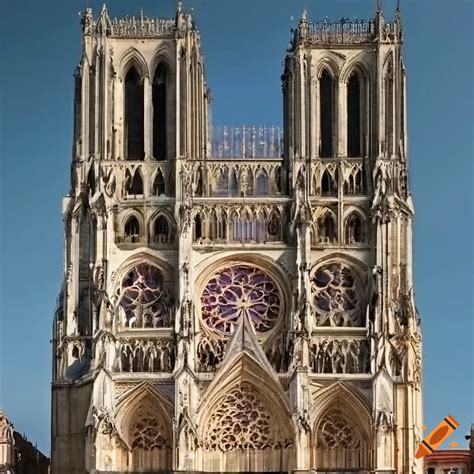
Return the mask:
[[170,324],[171,300],[161,271],[148,263],[133,267],[122,280],[122,324],[130,328],[159,328]]

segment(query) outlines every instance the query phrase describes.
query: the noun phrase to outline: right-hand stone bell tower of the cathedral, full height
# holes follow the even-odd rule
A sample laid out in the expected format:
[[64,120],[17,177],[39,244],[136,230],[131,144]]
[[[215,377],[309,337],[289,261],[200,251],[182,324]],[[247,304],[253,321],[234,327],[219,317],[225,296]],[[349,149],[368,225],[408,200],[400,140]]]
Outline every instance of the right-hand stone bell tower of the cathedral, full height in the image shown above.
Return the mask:
[[[358,467],[373,472],[422,472],[402,44],[398,7],[393,22],[381,2],[368,21],[310,21],[304,12],[282,76],[300,307],[312,301],[298,323],[310,341],[304,383],[340,373],[370,391],[371,446]],[[358,354],[356,365],[338,366],[344,353]],[[342,467],[336,446],[316,436],[317,467]]]

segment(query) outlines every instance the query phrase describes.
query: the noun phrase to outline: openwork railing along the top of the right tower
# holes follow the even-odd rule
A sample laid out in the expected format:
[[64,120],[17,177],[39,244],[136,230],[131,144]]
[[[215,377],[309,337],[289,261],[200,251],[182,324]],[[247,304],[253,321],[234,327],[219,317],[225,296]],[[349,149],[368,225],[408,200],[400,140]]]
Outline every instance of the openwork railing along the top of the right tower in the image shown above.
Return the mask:
[[322,20],[308,22],[310,40],[316,44],[367,43],[375,38],[374,20],[338,21]]

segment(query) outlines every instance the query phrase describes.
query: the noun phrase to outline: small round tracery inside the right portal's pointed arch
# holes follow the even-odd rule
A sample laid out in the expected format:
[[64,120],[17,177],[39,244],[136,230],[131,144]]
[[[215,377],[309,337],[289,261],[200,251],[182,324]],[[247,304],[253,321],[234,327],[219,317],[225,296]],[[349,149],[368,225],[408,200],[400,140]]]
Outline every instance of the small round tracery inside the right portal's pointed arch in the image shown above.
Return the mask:
[[339,411],[327,414],[319,425],[319,438],[326,449],[355,449],[359,438],[348,420]]

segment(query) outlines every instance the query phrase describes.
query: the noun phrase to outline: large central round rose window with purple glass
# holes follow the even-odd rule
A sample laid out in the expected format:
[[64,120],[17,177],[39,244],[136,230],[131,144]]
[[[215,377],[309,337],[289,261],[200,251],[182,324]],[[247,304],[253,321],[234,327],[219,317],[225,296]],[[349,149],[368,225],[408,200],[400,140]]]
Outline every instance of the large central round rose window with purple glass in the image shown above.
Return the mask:
[[219,270],[201,295],[206,326],[221,335],[234,332],[237,322],[248,315],[259,332],[269,331],[280,315],[281,294],[263,270],[247,265]]

